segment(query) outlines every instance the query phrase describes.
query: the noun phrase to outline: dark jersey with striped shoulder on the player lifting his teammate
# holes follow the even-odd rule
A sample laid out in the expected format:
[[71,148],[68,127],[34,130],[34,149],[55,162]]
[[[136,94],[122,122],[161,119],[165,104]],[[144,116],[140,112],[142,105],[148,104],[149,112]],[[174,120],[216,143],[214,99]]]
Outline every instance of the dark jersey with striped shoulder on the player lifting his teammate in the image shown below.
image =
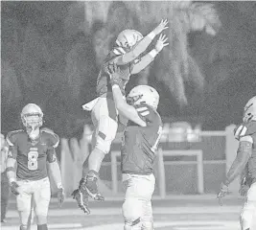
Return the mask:
[[140,104],[134,107],[147,126],[141,127],[128,121],[122,141],[121,170],[122,173],[151,174],[161,137],[162,121],[151,106]]

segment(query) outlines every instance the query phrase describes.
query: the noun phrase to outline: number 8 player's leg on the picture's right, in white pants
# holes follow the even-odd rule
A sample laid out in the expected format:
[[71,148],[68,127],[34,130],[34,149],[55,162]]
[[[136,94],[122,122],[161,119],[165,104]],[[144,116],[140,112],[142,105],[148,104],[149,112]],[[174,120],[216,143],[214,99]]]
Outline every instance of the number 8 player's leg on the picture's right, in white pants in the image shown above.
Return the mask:
[[35,181],[34,184],[35,215],[37,218],[37,230],[47,230],[47,216],[51,199],[51,187],[49,178]]

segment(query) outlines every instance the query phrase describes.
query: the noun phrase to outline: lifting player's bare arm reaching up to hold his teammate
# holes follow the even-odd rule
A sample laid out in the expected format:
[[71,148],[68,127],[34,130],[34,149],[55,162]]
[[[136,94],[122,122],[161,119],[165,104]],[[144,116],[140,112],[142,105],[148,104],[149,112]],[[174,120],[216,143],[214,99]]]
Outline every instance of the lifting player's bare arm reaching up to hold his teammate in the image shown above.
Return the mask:
[[140,116],[137,113],[137,110],[133,106],[127,104],[126,100],[123,97],[123,94],[119,86],[121,81],[121,79],[119,79],[119,68],[117,68],[116,65],[111,65],[108,68],[108,70],[110,82],[112,85],[113,98],[117,110],[120,112],[122,116],[124,116],[128,120],[131,120],[132,122],[140,125],[141,127],[146,127],[146,123],[140,118]]

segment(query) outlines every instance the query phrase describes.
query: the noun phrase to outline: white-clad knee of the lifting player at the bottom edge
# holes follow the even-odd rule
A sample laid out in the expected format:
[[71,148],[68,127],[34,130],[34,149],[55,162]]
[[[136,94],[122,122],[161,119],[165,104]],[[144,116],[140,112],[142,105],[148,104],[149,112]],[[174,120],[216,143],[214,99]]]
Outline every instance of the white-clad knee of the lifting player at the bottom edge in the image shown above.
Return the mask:
[[125,229],[135,230],[141,229],[141,207],[137,199],[126,199],[123,204],[122,211],[125,219]]

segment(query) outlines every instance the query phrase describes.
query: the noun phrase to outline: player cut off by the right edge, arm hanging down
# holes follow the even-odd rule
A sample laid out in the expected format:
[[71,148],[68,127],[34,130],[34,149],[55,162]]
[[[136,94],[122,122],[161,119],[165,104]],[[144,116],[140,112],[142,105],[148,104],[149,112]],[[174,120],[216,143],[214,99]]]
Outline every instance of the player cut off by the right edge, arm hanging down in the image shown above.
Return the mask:
[[240,222],[242,230],[252,230],[253,218],[256,215],[256,96],[245,104],[243,124],[236,128],[235,137],[239,140],[237,157],[221,183],[218,197],[221,200],[228,192],[228,185],[245,170],[241,195],[246,196],[246,202]]

